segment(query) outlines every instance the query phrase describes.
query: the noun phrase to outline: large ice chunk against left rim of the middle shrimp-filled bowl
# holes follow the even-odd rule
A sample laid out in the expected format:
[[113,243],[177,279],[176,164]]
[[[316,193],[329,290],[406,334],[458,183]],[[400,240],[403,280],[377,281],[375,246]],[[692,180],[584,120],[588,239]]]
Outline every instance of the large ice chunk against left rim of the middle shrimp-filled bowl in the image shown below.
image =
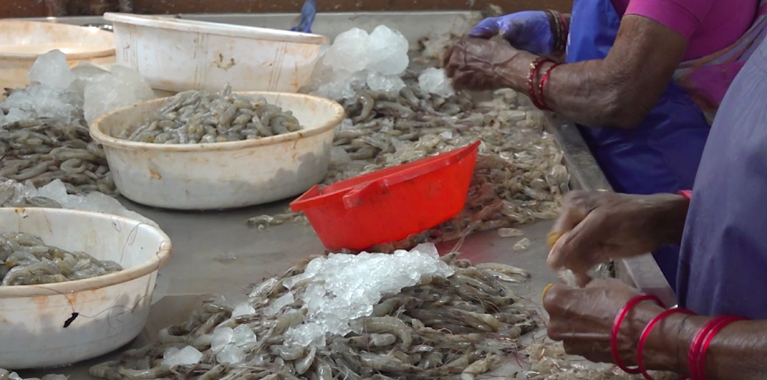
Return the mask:
[[115,64],[110,75],[101,75],[85,84],[84,113],[88,124],[119,107],[154,98],[149,84],[131,68]]

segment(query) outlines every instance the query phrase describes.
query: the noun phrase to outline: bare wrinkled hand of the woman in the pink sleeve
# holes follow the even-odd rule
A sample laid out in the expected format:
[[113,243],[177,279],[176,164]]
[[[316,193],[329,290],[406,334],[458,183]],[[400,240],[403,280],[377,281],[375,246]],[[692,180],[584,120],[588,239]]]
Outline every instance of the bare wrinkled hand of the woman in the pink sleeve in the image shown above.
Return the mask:
[[495,90],[502,87],[499,69],[518,53],[503,41],[461,38],[445,51],[445,71],[458,91]]

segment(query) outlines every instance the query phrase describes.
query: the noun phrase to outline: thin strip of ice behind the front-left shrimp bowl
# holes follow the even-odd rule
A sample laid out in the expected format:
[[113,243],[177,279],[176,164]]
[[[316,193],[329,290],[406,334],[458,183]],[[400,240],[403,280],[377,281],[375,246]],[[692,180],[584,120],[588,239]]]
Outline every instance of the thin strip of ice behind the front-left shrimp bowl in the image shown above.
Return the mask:
[[[18,183],[15,180],[6,180],[0,183],[0,192],[13,191],[16,197],[45,197],[55,200],[61,207],[70,210],[95,211],[99,213],[108,213],[110,215],[125,216],[130,219],[158,226],[153,220],[146,218],[140,213],[135,213],[123,207],[122,204],[113,197],[94,191],[87,195],[72,195],[67,193],[67,188],[61,180],[54,180],[39,189],[31,181]],[[18,200],[10,200],[12,203]]]

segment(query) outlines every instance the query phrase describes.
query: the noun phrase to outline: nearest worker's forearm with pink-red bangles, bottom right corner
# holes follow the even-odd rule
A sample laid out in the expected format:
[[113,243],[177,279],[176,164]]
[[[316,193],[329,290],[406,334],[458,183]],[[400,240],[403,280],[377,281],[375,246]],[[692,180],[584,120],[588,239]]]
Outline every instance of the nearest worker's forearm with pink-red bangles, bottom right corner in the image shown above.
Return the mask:
[[[649,368],[688,375],[687,353],[694,336],[710,320],[703,316],[670,316],[650,334],[645,355]],[[734,322],[719,332],[706,355],[706,379],[763,379],[767,373],[767,321]]]

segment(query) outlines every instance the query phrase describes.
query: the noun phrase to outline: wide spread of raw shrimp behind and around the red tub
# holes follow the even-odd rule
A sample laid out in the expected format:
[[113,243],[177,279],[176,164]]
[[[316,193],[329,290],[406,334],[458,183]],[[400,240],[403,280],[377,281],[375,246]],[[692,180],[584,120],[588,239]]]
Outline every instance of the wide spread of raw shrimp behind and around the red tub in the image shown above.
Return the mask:
[[[449,40],[441,41],[443,44]],[[492,94],[458,92],[441,97],[423,91],[418,75],[435,63],[439,48],[424,44],[428,57],[411,62],[398,94],[365,89],[341,101],[347,121],[334,137],[334,154],[325,184],[356,177],[481,140],[479,157],[462,213],[432,230],[387,246],[391,252],[417,243],[439,243],[469,233],[553,219],[568,190],[569,174],[555,138],[544,130],[545,114],[524,95],[505,89]],[[437,51],[436,53],[434,51]],[[265,229],[304,221],[297,213],[255,216],[247,221]]]

